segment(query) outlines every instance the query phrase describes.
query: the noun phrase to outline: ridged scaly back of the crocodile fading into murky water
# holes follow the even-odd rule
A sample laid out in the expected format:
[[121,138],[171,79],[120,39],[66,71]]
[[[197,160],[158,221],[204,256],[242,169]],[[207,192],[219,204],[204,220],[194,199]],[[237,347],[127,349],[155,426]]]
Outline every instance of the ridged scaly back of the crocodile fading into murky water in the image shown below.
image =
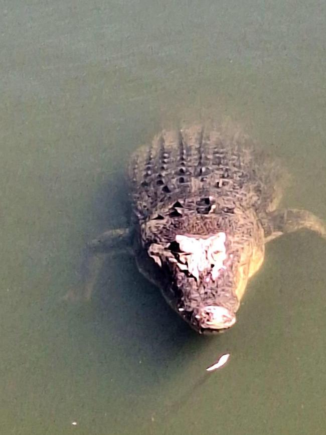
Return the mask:
[[259,215],[272,203],[278,178],[277,165],[256,151],[246,135],[197,126],[162,131],[133,154],[129,165],[140,222],[174,213],[178,203],[190,214],[250,209]]

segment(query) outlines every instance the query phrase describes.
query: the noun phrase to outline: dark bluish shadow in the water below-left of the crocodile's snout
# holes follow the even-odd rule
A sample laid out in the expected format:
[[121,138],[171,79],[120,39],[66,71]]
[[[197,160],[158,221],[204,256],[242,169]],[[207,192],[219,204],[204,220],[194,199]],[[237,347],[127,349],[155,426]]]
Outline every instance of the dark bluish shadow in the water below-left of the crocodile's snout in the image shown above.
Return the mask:
[[[123,338],[126,350],[137,343],[150,365],[167,365],[184,347],[201,346],[208,339],[170,308],[159,289],[140,274],[132,257],[105,260],[96,287],[96,310],[102,313],[103,326]],[[129,358],[133,365],[134,357]]]

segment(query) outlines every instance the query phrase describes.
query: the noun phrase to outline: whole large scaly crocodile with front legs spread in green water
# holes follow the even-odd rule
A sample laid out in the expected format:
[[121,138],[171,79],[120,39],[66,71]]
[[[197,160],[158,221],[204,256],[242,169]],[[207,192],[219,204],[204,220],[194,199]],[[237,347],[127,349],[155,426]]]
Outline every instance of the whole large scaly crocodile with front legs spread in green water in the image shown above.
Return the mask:
[[326,238],[314,214],[278,208],[286,175],[242,132],[161,131],[130,159],[129,228],[91,246],[130,244],[139,271],[195,331],[225,331],[268,241],[303,228]]

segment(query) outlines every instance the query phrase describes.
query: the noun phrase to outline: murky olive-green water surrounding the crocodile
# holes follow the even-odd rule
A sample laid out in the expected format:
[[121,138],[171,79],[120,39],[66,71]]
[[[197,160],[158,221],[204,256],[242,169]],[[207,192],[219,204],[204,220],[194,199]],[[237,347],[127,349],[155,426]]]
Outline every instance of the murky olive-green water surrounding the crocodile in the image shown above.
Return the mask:
[[85,243],[126,225],[124,168],[161,127],[239,122],[293,174],[285,204],[326,219],[325,3],[0,6],[0,433],[325,433],[316,235],[267,246],[219,337],[189,330],[123,255],[90,301],[64,299]]

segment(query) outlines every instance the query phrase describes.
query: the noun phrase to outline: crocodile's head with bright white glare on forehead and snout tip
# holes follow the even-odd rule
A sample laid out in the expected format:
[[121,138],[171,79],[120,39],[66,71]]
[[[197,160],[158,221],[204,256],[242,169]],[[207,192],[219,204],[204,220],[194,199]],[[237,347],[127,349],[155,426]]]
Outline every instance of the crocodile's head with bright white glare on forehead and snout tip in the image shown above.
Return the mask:
[[161,286],[164,296],[195,330],[217,332],[234,325],[239,301],[224,232],[177,234],[170,243],[152,243],[148,254],[169,278]]

